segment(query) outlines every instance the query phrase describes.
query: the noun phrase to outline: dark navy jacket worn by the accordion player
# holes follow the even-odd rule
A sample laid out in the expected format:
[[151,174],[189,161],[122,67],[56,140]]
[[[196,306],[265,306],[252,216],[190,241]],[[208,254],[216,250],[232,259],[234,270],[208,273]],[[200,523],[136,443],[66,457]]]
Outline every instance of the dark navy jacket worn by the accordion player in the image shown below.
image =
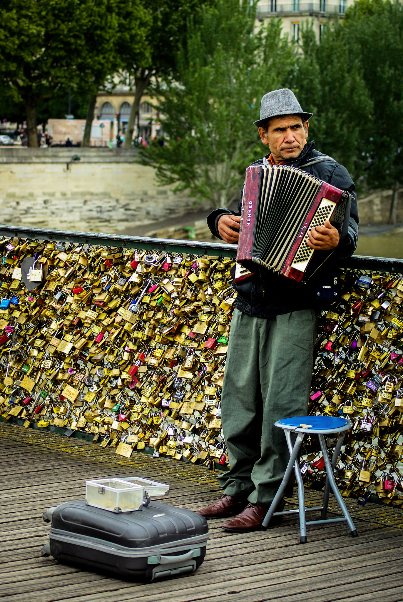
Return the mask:
[[[312,141],[305,144],[299,157],[287,161],[286,165],[299,167],[321,155],[322,153],[315,150],[315,143]],[[267,157],[269,157],[269,155],[267,155]],[[258,165],[263,165],[263,159],[252,163],[252,166]],[[329,261],[328,264],[326,264],[325,269],[319,276],[319,279],[323,279],[326,278],[326,275],[328,275],[332,269],[331,265],[333,265],[334,268],[335,262],[337,264],[337,258],[348,258],[354,253],[355,247],[357,246],[357,196],[355,194],[354,182],[350,178],[348,171],[345,167],[339,165],[337,161],[334,161],[334,159],[329,158],[329,160],[308,167],[302,167],[301,169],[324,182],[328,182],[328,184],[331,184],[332,186],[340,188],[341,190],[348,190],[354,197],[351,203],[348,237],[343,244],[340,244],[337,247],[337,250],[333,255],[334,259],[332,263]],[[221,238],[217,231],[218,220],[224,214],[240,216],[241,207],[242,191],[238,204],[238,211],[231,211],[231,209],[224,208],[211,211],[210,215],[207,217],[207,225],[212,234],[217,238]],[[270,318],[279,314],[288,314],[292,311],[299,311],[300,309],[316,308],[318,305],[314,284],[298,284],[298,282],[284,278],[284,276],[277,276],[263,269],[258,270],[253,278],[240,282],[235,285],[235,287],[238,292],[235,302],[236,308],[246,314],[257,317]]]

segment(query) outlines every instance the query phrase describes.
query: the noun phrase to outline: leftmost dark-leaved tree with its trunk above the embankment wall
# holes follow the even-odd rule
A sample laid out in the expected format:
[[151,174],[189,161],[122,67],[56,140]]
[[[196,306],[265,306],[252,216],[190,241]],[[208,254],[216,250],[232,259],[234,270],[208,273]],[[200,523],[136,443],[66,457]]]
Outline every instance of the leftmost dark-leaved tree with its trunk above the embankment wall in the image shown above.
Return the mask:
[[[37,146],[40,99],[69,86],[93,95],[116,69],[119,11],[125,4],[142,17],[136,0],[2,1],[0,81],[7,98],[25,105],[29,146]],[[134,19],[135,28],[138,24]]]

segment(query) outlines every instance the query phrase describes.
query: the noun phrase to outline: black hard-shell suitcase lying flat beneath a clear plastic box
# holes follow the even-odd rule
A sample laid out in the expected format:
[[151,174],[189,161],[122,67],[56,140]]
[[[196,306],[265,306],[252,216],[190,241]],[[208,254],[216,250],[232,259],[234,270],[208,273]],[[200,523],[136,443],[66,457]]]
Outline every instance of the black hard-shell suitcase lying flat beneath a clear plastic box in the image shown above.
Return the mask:
[[155,501],[122,514],[69,501],[47,510],[43,520],[52,521],[43,556],[137,581],[193,573],[208,539],[204,517]]

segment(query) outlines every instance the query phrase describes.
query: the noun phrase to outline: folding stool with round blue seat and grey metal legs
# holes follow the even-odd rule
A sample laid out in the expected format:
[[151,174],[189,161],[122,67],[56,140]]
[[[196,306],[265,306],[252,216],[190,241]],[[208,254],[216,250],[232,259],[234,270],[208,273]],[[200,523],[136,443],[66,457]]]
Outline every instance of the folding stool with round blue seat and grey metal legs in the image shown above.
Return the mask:
[[[346,504],[344,503],[339,488],[336,485],[336,481],[334,480],[334,469],[336,468],[337,459],[339,458],[340,450],[342,448],[344,435],[346,430],[352,427],[352,423],[346,418],[333,416],[295,416],[292,418],[281,418],[281,420],[275,422],[275,426],[284,430],[287,446],[290,452],[290,460],[287,464],[283,481],[276,492],[275,498],[272,501],[269,510],[267,510],[262,527],[267,527],[272,517],[285,514],[299,514],[299,535],[301,544],[305,544],[307,542],[307,525],[312,524],[339,523],[340,521],[346,521],[351,535],[356,537],[358,535],[357,529],[355,529]],[[298,433],[294,444],[291,439],[291,432]],[[322,450],[322,456],[323,461],[325,462],[326,470],[326,483],[322,506],[316,506],[313,508],[305,507],[304,481],[302,480],[301,470],[298,462],[299,449],[301,448],[302,441],[304,441],[304,437],[307,433],[310,433],[311,435],[317,435],[319,438],[320,449]],[[332,461],[330,461],[325,437],[323,436],[324,434],[330,435],[331,433],[339,433],[336,447],[334,448]],[[283,512],[275,512],[278,503],[284,495],[284,491],[287,483],[289,482],[292,470],[295,472],[296,482],[298,483],[298,510],[283,510]],[[326,518],[330,489],[332,489],[336,500],[339,503],[343,518]],[[312,512],[313,510],[321,510],[320,520],[307,522],[305,520],[305,513]]]

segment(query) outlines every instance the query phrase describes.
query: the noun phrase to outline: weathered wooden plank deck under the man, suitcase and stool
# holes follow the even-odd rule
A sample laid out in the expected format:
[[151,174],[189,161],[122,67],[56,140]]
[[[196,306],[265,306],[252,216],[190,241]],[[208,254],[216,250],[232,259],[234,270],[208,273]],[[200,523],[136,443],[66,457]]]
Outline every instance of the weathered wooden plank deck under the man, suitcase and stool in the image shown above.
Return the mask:
[[[207,556],[190,576],[140,584],[58,564],[40,554],[49,524],[42,512],[83,497],[86,479],[140,475],[169,482],[166,503],[196,510],[217,497],[214,473],[136,453],[130,460],[78,439],[0,427],[0,598],[13,602],[332,602],[403,601],[402,510],[349,504],[359,537],[345,524],[308,527],[298,520],[266,532],[230,535],[210,521]],[[307,503],[318,494],[307,492]],[[295,500],[292,500],[295,501]],[[336,516],[334,500],[331,512]],[[314,513],[310,516],[313,517]],[[392,526],[390,526],[392,525]],[[396,525],[396,526],[395,526]]]

